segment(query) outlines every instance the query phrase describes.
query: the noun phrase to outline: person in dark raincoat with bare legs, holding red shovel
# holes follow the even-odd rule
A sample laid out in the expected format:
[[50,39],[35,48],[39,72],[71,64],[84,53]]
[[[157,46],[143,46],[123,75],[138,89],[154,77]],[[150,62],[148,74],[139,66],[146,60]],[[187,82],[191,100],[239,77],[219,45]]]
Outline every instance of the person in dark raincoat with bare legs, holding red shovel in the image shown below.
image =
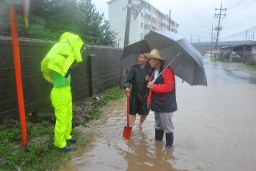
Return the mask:
[[150,109],[147,107],[147,82],[150,81],[152,70],[147,63],[146,56],[138,55],[138,64],[131,66],[125,80],[126,94],[130,97],[130,125],[134,126],[136,114],[140,115],[138,127],[142,129]]

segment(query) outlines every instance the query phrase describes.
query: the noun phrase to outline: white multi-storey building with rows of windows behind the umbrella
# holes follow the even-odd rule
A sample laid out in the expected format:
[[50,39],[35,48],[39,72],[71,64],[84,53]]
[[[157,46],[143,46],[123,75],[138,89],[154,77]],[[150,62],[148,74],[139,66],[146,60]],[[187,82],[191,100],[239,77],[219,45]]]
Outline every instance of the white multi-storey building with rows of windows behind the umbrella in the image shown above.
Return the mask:
[[[123,47],[128,0],[111,0],[107,4],[111,29],[117,33],[117,46]],[[170,19],[169,14],[162,13],[145,0],[133,0],[132,4],[129,44],[142,40],[152,29],[169,30],[169,22],[170,31],[178,33],[178,23]]]

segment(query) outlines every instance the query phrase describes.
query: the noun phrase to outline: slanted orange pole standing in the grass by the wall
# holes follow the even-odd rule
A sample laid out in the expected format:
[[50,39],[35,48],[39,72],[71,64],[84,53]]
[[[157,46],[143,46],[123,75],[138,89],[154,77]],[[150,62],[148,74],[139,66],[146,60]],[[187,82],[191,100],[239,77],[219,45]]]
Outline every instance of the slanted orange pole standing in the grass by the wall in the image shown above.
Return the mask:
[[26,116],[25,116],[23,87],[22,87],[21,60],[20,60],[19,46],[18,46],[16,10],[15,10],[14,4],[10,4],[9,9],[10,9],[10,30],[11,30],[11,38],[13,42],[16,90],[17,90],[17,96],[18,96],[18,112],[19,112],[19,119],[20,119],[21,129],[22,129],[22,145],[26,146],[27,145]]

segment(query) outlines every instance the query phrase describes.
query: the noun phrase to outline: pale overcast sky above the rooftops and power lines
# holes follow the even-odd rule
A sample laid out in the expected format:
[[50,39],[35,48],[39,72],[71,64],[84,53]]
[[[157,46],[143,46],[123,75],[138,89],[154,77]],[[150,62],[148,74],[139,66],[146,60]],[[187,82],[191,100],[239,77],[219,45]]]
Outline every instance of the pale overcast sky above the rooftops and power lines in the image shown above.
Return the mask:
[[[108,18],[108,8],[106,2],[109,0],[92,0],[100,12],[103,12]],[[220,39],[245,40],[246,31],[256,26],[256,0],[150,0],[151,5],[162,12],[169,14],[171,18],[178,22],[178,34],[186,37],[189,41],[191,34],[193,42],[210,42],[211,26],[214,20],[214,26],[218,26],[218,19],[214,19],[215,7],[219,8],[222,2],[226,10],[226,18],[222,18]],[[122,8],[122,6],[120,6]],[[241,33],[244,31],[243,33]],[[248,38],[252,39],[256,29],[248,31]],[[238,34],[241,33],[241,34]],[[230,35],[238,34],[238,36]]]

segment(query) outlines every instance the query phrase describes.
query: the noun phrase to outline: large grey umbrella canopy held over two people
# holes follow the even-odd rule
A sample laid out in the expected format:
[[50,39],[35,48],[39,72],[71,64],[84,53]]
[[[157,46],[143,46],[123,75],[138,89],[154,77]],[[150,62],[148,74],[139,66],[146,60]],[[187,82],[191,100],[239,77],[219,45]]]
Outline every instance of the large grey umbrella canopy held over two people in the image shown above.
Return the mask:
[[[167,63],[173,61],[170,66],[174,73],[185,82],[190,85],[207,85],[202,55],[186,38],[179,38],[169,30],[150,30],[144,40],[126,46],[122,62],[126,62],[127,66],[128,58],[149,49],[162,50],[163,58],[166,58]],[[178,58],[174,58],[179,52],[181,54]]]

